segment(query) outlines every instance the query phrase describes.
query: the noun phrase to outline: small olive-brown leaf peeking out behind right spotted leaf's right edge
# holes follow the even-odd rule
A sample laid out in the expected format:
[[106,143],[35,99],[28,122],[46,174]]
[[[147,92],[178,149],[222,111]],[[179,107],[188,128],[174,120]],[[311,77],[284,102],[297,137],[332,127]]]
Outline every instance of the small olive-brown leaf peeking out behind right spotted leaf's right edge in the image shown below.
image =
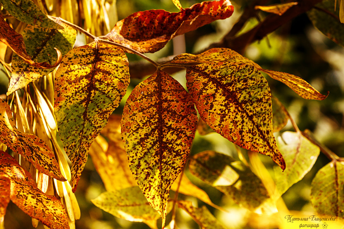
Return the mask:
[[272,130],[273,132],[280,131],[287,125],[289,120],[286,107],[275,97],[271,96],[272,102]]

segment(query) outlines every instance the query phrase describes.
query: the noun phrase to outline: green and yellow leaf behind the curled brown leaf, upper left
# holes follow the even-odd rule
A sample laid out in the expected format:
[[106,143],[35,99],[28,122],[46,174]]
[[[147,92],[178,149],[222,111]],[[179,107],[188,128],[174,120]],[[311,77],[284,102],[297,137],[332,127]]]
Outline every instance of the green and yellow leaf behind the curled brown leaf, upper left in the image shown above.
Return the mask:
[[[64,26],[63,30],[54,28],[42,28],[39,26],[28,25],[22,32],[26,51],[32,60],[36,62],[54,63],[58,57],[54,48],[58,48],[62,57],[73,48],[76,38],[76,31],[71,26],[63,23],[60,19],[53,19],[56,23]],[[56,66],[55,66],[56,67]],[[7,95],[25,87],[30,82],[47,75],[54,68],[39,69],[25,63],[19,56],[13,55],[12,73]]]

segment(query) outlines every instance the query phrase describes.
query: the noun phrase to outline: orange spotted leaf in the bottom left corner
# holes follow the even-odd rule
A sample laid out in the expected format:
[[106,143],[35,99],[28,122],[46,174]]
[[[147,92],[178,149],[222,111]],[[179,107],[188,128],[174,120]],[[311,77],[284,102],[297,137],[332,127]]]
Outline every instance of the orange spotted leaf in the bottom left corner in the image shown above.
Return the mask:
[[69,228],[61,202],[55,196],[46,195],[39,190],[31,174],[3,151],[0,151],[0,176],[11,180],[10,199],[26,214],[50,228]]

